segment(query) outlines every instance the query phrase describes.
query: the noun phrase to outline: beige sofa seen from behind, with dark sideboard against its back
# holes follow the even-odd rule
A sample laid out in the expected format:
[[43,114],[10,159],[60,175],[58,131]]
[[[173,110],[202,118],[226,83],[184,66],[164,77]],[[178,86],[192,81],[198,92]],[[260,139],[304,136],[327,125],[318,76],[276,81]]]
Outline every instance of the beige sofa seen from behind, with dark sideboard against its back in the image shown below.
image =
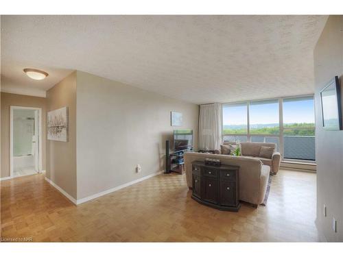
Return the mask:
[[185,153],[187,186],[192,186],[192,162],[205,158],[221,160],[222,164],[239,166],[239,199],[255,206],[262,204],[268,186],[270,167],[257,158],[224,154]]

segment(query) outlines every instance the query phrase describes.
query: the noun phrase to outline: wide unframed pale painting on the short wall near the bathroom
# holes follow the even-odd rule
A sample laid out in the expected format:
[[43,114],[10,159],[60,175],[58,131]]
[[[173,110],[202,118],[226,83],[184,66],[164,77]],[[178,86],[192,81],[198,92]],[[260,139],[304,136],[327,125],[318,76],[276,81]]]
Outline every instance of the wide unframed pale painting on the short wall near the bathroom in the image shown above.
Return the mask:
[[47,113],[47,139],[68,142],[68,107]]

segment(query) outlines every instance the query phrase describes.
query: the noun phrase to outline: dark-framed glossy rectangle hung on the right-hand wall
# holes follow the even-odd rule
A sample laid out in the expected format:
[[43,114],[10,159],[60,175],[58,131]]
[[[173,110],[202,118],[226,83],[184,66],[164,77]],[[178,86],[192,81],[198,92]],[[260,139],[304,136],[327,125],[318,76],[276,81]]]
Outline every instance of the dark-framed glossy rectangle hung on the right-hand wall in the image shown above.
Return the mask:
[[338,76],[320,92],[322,125],[324,130],[342,130],[341,88]]

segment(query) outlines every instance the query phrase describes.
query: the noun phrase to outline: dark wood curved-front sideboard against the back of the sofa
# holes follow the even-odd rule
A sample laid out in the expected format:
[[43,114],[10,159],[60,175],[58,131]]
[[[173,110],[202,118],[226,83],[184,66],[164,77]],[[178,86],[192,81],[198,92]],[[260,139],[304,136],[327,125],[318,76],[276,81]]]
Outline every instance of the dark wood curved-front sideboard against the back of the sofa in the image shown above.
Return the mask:
[[239,204],[239,167],[220,167],[192,162],[192,198],[200,204],[237,212]]

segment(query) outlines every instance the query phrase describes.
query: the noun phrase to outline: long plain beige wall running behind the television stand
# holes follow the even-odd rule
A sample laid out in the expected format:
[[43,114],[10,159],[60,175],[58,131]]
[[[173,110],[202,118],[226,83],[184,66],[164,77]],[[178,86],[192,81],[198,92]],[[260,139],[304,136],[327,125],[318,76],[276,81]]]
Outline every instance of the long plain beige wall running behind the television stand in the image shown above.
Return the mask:
[[[182,127],[171,127],[171,111],[182,112]],[[176,128],[193,129],[197,147],[198,112],[196,104],[78,71],[78,199],[163,171],[165,140]]]

